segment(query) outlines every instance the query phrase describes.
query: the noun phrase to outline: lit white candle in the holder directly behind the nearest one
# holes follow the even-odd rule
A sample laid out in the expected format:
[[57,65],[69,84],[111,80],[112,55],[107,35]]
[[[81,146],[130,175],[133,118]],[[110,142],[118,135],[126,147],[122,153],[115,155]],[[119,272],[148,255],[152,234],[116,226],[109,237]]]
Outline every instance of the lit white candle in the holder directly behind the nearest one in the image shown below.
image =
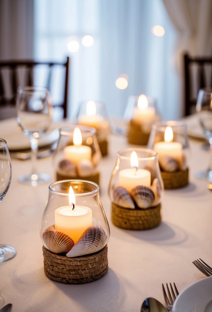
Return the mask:
[[82,144],[82,135],[79,128],[74,129],[73,133],[74,145],[66,146],[63,149],[66,159],[73,161],[78,164],[82,159],[91,159],[91,148],[87,145]]

